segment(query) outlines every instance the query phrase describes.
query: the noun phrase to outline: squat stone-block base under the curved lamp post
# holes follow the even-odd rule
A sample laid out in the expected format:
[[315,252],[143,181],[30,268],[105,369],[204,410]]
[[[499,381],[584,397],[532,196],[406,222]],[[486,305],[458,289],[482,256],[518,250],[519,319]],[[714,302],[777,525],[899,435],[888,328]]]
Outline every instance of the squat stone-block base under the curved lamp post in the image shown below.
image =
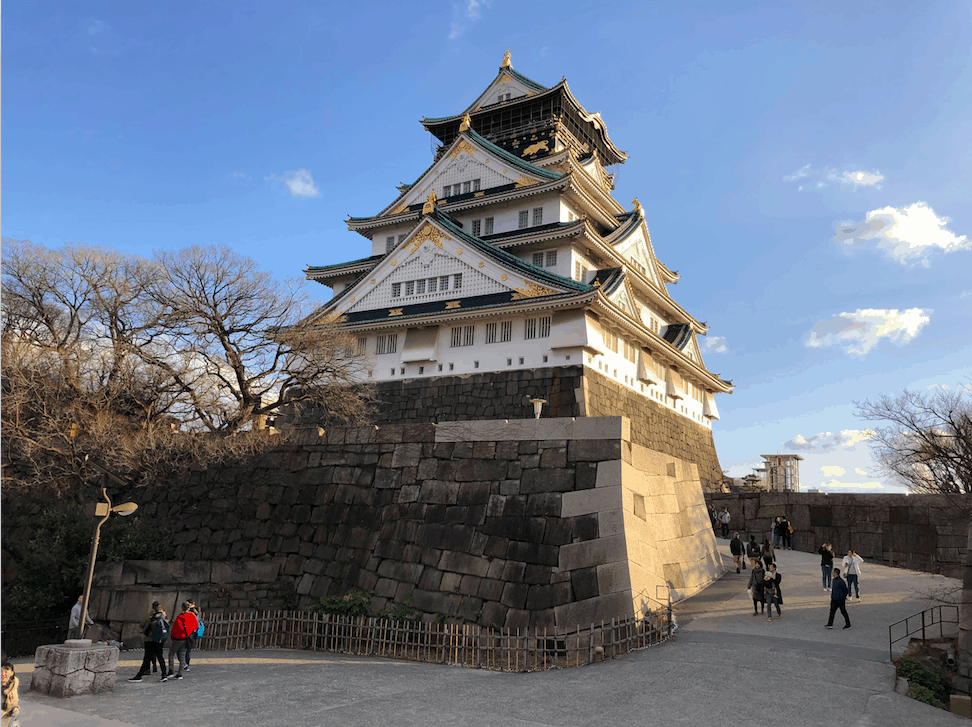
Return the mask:
[[92,644],[90,639],[38,646],[30,689],[52,697],[110,692],[117,666],[118,648]]

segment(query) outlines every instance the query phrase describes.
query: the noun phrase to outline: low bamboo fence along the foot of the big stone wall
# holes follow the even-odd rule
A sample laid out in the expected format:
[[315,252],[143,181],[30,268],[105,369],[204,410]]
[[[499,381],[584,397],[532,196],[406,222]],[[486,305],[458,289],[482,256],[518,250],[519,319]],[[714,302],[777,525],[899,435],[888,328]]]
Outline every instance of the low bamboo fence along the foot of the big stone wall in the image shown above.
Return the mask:
[[277,647],[514,672],[575,667],[620,656],[666,641],[675,628],[670,610],[577,626],[568,633],[299,611],[209,614],[205,621],[206,634],[197,648],[209,651]]

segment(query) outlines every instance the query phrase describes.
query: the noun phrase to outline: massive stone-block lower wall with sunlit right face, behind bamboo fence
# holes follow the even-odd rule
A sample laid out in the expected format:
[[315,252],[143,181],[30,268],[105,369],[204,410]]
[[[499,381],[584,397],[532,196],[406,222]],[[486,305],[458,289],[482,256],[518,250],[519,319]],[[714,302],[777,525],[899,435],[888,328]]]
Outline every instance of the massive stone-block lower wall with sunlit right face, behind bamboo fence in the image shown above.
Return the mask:
[[721,573],[696,466],[621,417],[332,428],[252,466],[139,490],[178,562],[105,564],[96,619],[152,600],[375,610],[572,629],[664,605]]

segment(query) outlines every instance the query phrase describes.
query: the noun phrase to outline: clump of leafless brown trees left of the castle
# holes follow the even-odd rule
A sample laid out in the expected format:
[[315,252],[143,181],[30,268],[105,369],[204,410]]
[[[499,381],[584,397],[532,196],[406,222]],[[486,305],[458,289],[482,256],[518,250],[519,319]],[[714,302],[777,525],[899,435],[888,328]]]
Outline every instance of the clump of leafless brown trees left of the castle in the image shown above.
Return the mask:
[[152,260],[4,240],[4,484],[73,489],[100,462],[140,483],[272,440],[290,401],[367,415],[363,361],[310,301],[228,248]]

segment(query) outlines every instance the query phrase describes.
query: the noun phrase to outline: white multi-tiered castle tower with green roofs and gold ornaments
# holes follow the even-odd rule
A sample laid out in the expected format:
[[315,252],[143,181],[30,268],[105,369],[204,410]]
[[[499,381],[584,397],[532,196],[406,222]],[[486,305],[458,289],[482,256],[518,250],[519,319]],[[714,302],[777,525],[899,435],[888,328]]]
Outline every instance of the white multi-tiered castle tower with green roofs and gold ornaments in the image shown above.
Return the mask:
[[304,271],[333,289],[318,314],[357,336],[363,376],[583,367],[711,427],[732,383],[706,368],[706,324],[672,297],[679,275],[656,257],[638,200],[612,196],[627,155],[600,114],[566,80],[515,71],[507,51],[471,104],[421,123],[441,142],[432,165],[347,220],[370,254]]

